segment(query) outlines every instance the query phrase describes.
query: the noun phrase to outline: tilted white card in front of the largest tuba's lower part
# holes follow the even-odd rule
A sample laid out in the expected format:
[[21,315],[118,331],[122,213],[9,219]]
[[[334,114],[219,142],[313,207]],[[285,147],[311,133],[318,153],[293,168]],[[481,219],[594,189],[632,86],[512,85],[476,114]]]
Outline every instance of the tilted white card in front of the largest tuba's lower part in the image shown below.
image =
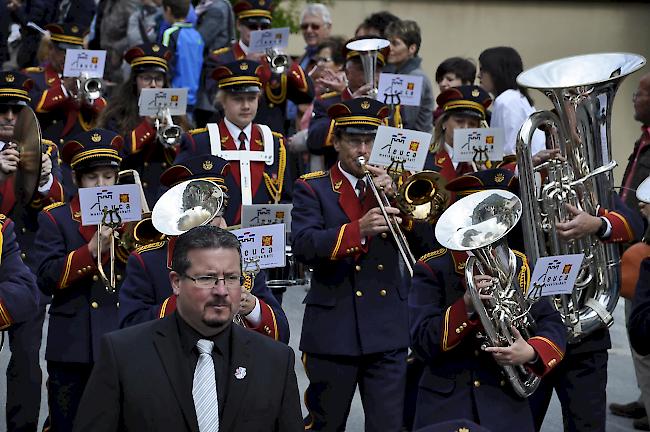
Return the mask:
[[538,258],[530,278],[528,297],[571,294],[584,256],[574,254]]

